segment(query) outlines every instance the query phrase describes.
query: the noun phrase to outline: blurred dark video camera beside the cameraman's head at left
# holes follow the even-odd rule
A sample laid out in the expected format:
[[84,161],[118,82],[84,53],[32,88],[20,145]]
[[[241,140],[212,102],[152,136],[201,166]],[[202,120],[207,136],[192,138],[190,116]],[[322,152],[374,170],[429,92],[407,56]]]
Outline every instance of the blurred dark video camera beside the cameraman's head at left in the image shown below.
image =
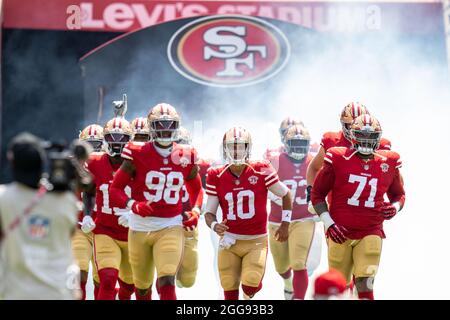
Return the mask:
[[92,147],[83,141],[74,140],[70,146],[65,142],[44,142],[47,162],[44,181],[49,191],[86,190],[92,184],[90,173],[83,163],[92,152]]

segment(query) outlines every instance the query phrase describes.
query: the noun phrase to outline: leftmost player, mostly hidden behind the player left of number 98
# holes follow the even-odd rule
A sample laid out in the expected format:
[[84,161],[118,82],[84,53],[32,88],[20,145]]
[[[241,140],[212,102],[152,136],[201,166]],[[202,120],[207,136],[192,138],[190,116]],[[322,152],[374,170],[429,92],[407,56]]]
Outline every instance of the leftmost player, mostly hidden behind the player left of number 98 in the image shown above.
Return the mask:
[[[88,142],[92,146],[93,151],[99,152],[103,146],[103,128],[98,124],[91,124],[80,132],[79,139],[81,141]],[[78,193],[77,197],[81,202],[81,193]],[[79,225],[83,224],[83,219],[84,213],[83,211],[80,211],[78,215]],[[95,219],[95,216],[93,217],[93,219]],[[82,291],[81,300],[86,300],[86,282],[88,279],[89,264],[91,261],[93,262],[92,275],[94,279],[94,297],[97,296],[100,286],[100,279],[98,277],[97,268],[94,263],[93,246],[94,238],[92,232],[84,233],[81,228],[75,231],[75,234],[72,238],[72,253],[78,267],[80,268],[80,289]]]

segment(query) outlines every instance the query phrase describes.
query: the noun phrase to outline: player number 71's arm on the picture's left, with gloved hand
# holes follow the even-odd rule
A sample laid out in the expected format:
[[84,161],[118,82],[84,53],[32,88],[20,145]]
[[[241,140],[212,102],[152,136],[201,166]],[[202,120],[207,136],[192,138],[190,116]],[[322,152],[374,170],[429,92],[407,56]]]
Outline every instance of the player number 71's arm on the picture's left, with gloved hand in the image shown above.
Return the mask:
[[317,174],[314,186],[311,190],[311,202],[314,210],[320,216],[325,226],[326,234],[336,243],[344,243],[347,240],[345,228],[337,225],[330,216],[326,197],[334,185],[335,174],[332,165],[325,162],[322,170]]

